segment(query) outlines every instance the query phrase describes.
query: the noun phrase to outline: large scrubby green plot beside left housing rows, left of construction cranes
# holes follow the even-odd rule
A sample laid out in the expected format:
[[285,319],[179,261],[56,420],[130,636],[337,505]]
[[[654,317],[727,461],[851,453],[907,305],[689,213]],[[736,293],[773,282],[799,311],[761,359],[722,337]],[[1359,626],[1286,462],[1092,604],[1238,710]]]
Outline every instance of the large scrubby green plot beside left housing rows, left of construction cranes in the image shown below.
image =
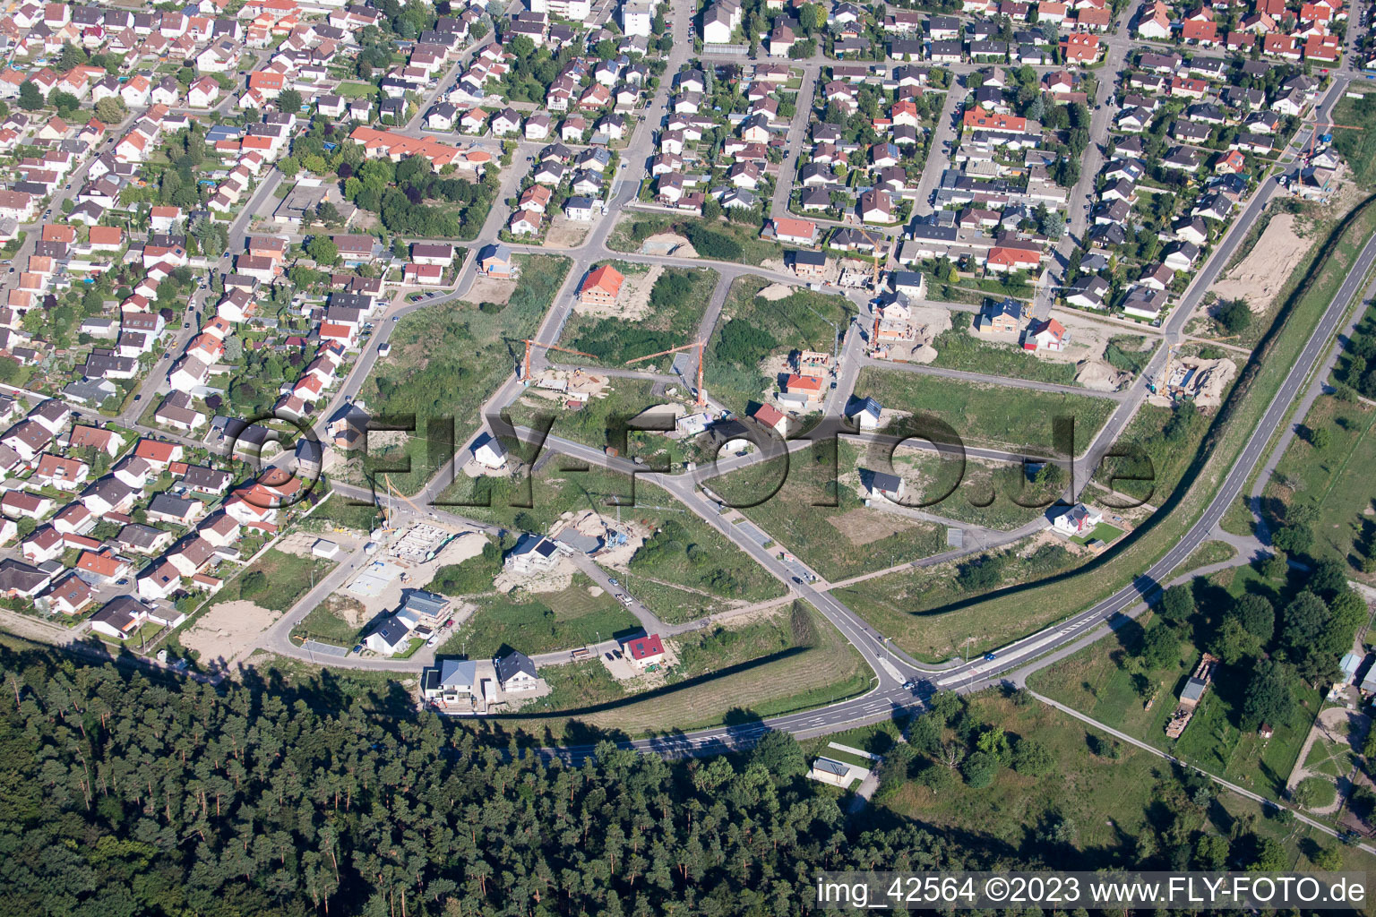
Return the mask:
[[506,307],[480,312],[468,302],[418,309],[392,331],[392,353],[380,360],[359,392],[374,418],[414,417],[407,439],[391,434],[385,448],[370,445],[369,465],[395,467],[410,461],[409,472],[391,472],[392,483],[414,494],[449,458],[443,440],[431,440],[428,425],[454,418],[454,443],[477,429],[475,410],[506,378],[524,346],[523,338],[539,327],[545,311],[568,272],[568,258],[548,254],[516,256],[522,275]]

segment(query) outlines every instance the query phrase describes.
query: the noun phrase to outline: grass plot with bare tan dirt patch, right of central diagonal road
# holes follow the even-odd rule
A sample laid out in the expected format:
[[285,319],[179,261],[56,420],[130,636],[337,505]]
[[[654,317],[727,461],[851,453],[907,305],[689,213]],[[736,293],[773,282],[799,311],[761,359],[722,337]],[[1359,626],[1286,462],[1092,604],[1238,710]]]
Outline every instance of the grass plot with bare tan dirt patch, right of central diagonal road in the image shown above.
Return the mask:
[[937,525],[868,509],[843,483],[857,455],[848,443],[838,452],[834,441],[820,440],[791,454],[787,469],[783,458],[758,462],[713,478],[710,487],[732,505],[762,500],[740,511],[832,582],[941,551]]

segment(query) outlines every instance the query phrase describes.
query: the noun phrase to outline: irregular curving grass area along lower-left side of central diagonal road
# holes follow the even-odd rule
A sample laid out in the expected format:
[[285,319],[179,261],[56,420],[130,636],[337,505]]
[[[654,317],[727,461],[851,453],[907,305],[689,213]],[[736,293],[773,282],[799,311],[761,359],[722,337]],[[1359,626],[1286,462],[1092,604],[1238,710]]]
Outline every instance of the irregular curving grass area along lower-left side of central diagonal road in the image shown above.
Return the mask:
[[[528,509],[510,506],[510,484],[493,494],[490,507],[454,507],[476,520],[508,528],[548,531],[564,513],[597,509],[608,521],[634,521],[648,529],[676,527],[674,544],[665,550],[633,560],[629,575],[622,577],[627,591],[645,604],[658,617],[669,623],[689,621],[724,609],[725,601],[760,602],[784,594],[783,584],[755,564],[727,536],[707,525],[694,513],[682,509],[667,491],[636,481],[634,506],[605,506],[608,496],[632,495],[629,477],[603,469],[561,473],[560,461],[545,465],[531,483]],[[464,488],[465,499],[472,498],[464,477],[455,489]],[[442,499],[453,499],[447,492]],[[658,580],[658,582],[656,582]]]

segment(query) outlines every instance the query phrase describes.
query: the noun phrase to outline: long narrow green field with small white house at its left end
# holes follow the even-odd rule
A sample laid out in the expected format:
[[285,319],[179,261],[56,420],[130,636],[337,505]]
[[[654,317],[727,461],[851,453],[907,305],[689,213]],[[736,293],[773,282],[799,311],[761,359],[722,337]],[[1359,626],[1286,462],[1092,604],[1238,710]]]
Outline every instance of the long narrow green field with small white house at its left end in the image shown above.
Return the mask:
[[866,367],[856,396],[871,396],[886,408],[927,414],[952,426],[969,445],[1051,452],[1051,419],[1075,419],[1075,454],[1088,448],[1113,410],[1113,401],[1080,395],[1033,392],[959,382],[901,370]]

